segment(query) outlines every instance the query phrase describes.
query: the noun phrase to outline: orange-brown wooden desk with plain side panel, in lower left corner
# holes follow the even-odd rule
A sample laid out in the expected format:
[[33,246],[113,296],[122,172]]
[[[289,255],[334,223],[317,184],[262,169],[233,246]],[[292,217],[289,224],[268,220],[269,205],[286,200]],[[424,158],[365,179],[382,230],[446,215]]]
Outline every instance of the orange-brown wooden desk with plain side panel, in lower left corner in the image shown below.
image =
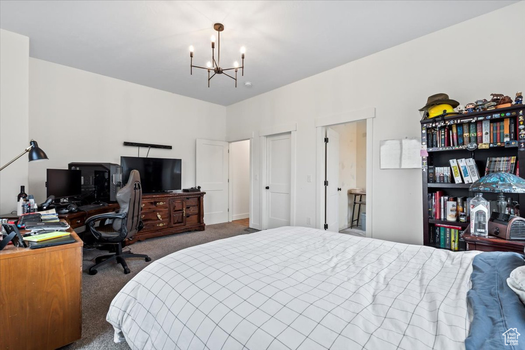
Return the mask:
[[[23,232],[23,231],[22,231]],[[82,333],[82,241],[0,251],[0,349],[56,349]]]

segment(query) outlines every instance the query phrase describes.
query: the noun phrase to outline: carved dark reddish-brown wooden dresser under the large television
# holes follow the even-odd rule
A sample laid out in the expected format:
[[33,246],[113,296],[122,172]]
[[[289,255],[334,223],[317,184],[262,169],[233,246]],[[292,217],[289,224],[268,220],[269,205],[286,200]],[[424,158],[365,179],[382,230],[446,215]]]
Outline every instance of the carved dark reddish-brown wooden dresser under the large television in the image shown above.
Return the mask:
[[130,245],[146,238],[177,234],[185,231],[203,231],[205,192],[177,192],[142,195],[142,221],[144,228]]

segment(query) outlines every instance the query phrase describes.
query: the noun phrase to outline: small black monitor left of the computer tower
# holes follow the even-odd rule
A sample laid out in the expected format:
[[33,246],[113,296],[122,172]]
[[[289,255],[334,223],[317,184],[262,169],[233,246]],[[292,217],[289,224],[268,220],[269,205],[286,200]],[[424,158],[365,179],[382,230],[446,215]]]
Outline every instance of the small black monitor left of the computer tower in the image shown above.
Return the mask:
[[67,198],[82,193],[80,170],[47,169],[47,196]]

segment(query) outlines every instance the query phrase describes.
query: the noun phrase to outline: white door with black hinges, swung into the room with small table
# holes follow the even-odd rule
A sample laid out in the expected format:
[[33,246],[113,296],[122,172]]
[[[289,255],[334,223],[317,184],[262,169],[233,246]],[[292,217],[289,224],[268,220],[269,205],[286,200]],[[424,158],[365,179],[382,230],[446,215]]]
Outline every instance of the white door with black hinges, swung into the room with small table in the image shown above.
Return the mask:
[[327,129],[327,224],[328,230],[339,232],[339,134]]

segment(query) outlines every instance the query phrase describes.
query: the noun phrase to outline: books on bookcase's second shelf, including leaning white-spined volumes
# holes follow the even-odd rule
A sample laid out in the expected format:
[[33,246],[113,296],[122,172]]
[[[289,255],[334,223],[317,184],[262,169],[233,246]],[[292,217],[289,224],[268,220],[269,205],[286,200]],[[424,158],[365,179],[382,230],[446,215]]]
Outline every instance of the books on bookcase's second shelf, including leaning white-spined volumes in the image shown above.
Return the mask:
[[429,166],[428,183],[471,184],[479,180],[479,170],[474,158],[451,159],[450,166]]

